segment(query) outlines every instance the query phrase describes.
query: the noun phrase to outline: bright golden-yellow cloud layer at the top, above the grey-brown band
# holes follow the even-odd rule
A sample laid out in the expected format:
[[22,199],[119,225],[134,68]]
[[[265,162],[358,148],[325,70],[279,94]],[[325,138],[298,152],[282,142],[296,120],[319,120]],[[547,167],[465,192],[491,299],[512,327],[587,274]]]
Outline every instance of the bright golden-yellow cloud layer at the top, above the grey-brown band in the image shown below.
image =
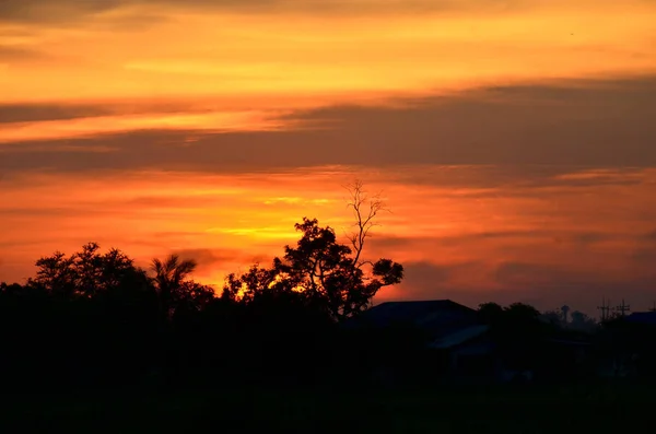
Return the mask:
[[[0,60],[8,102],[213,95],[257,105],[267,95],[304,94],[335,103],[656,70],[654,5],[639,0],[621,9],[599,1],[587,9],[543,1],[42,3],[2,3],[0,39],[14,54]],[[445,12],[454,7],[461,12]],[[26,62],[16,50],[48,59]],[[35,66],[47,69],[47,81]]]

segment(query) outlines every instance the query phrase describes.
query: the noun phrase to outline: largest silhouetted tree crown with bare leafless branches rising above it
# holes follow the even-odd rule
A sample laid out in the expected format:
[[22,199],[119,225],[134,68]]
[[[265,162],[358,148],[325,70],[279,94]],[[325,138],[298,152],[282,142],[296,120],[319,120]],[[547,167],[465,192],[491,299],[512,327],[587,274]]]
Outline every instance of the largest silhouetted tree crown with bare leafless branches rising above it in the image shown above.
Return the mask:
[[332,227],[303,218],[294,225],[301,233],[295,246],[285,246],[284,256],[276,258],[269,269],[254,266],[242,275],[230,274],[222,297],[249,303],[262,294],[285,295],[286,300],[302,300],[308,308],[343,320],[366,309],[380,288],[399,283],[403,278],[400,263],[386,258],[376,262],[363,259],[365,242],[374,219],[384,210],[383,202],[378,196],[367,198],[360,181],[350,192],[348,207],[353,210],[356,227],[348,235],[351,246],[341,244]]

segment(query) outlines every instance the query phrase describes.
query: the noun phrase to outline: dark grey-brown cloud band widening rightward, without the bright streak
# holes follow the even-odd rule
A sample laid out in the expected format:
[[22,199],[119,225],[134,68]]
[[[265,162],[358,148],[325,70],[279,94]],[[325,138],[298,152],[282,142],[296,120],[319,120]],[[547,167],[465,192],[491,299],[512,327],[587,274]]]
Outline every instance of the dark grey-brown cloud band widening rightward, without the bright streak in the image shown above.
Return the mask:
[[[24,154],[3,155],[2,171],[95,171],[162,167],[267,171],[314,165],[465,164],[514,167],[530,174],[554,166],[656,166],[656,79],[505,86],[455,96],[405,99],[385,107],[351,106],[300,112],[281,121],[330,119],[330,128],[208,133],[134,131],[61,143],[116,148],[114,156],[83,152],[51,155],[37,142],[14,143]],[[79,108],[22,108],[4,117],[78,116]],[[90,114],[102,107],[89,108]],[[194,143],[186,143],[189,137]],[[0,150],[2,148],[0,146]],[[532,166],[531,166],[532,165]],[[540,167],[536,167],[538,165]],[[499,171],[499,168],[496,168]],[[562,185],[617,183],[623,172],[560,178]],[[421,175],[418,175],[421,177]],[[499,174],[499,176],[504,176]],[[622,181],[635,181],[626,177]]]

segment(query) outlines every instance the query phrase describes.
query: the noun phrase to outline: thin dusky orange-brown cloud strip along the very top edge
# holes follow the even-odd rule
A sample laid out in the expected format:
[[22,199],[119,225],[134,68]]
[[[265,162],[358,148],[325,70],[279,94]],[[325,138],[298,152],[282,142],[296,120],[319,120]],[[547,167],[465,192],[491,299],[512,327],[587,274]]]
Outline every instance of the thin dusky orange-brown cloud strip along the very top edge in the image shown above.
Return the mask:
[[[401,15],[511,15],[526,11],[606,10],[612,0],[3,0],[0,24],[140,30],[153,23],[176,20],[181,13],[230,13],[242,15],[304,15],[362,17]],[[629,4],[628,4],[629,5]],[[630,5],[649,7],[644,0]]]

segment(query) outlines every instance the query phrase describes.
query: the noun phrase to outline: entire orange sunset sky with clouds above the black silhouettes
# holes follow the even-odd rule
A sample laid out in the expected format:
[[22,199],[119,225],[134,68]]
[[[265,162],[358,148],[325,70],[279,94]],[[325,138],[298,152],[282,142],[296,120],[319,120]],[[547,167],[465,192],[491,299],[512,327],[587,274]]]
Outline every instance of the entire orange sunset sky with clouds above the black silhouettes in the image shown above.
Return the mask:
[[220,288],[344,185],[387,300],[656,301],[656,1],[0,1],[0,280],[90,241]]

